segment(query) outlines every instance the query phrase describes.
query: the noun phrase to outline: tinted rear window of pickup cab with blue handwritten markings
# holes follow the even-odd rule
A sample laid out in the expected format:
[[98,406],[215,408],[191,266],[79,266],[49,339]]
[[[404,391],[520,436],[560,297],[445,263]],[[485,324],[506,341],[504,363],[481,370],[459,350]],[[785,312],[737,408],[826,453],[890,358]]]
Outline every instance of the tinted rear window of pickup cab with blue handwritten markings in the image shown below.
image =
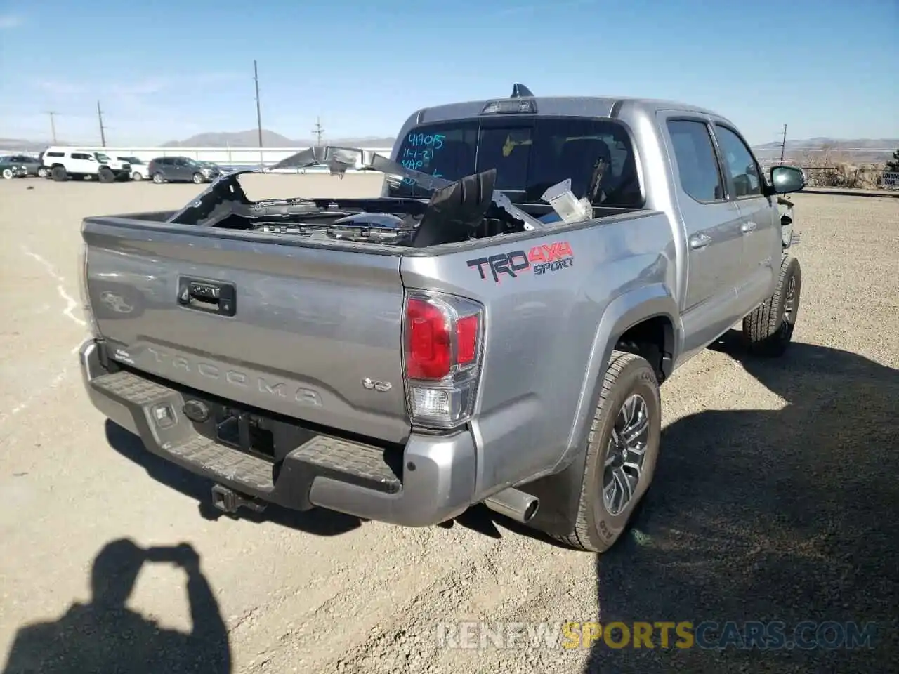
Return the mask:
[[[544,203],[543,192],[571,178],[579,199],[594,205],[643,206],[636,160],[618,122],[577,117],[461,120],[412,129],[396,161],[447,180],[496,169],[496,189],[517,203]],[[427,198],[405,180],[394,196]]]

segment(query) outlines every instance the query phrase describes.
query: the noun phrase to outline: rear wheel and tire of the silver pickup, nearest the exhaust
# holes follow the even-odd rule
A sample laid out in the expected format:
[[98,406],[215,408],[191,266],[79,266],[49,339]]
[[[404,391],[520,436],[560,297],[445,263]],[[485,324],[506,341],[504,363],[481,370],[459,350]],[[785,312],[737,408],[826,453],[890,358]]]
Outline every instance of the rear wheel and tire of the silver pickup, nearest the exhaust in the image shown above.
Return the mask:
[[[629,457],[631,461],[628,466],[621,466],[623,458],[620,456],[615,458],[612,466],[606,466],[607,459],[618,455],[618,451],[613,448],[612,431],[616,426],[619,426],[618,430],[622,430],[622,425],[628,428],[626,424],[621,424],[621,421],[627,421],[628,413],[623,411],[623,405],[634,401],[642,401],[643,414],[640,418],[645,418],[645,430],[636,435],[641,441],[632,446],[643,448],[643,463],[636,474],[632,468],[635,463],[633,457]],[[661,436],[662,400],[654,369],[634,353],[612,351],[587,439],[587,457],[583,466],[577,516],[571,533],[554,537],[565,545],[593,553],[603,553],[614,545],[627,528],[631,515],[653,481]],[[618,433],[614,437],[619,437]],[[617,469],[613,467],[616,464]],[[619,476],[624,474],[632,490],[631,497],[620,508],[616,507],[620,503],[607,503],[603,495],[603,483],[608,483],[613,472],[617,472]],[[631,483],[628,477],[636,480]],[[618,484],[619,490],[622,490],[622,483]]]

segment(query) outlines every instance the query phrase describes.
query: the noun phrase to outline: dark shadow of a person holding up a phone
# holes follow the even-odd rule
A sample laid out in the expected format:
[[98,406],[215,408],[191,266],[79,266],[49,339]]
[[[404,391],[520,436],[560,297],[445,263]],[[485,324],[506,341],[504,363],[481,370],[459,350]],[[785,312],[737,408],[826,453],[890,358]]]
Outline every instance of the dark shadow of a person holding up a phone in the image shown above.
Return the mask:
[[[147,562],[176,564],[186,573],[190,634],[162,628],[125,606]],[[89,603],[74,603],[56,621],[22,627],[4,674],[231,671],[227,628],[191,545],[112,541],[93,560],[91,588]]]

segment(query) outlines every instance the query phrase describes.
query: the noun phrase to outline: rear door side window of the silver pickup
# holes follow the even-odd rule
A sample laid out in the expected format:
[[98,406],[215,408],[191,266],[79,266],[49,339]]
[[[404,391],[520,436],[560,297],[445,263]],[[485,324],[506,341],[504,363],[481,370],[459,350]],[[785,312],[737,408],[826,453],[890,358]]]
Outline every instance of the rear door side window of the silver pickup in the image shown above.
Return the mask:
[[667,126],[683,191],[701,202],[723,200],[724,185],[706,123],[669,120]]

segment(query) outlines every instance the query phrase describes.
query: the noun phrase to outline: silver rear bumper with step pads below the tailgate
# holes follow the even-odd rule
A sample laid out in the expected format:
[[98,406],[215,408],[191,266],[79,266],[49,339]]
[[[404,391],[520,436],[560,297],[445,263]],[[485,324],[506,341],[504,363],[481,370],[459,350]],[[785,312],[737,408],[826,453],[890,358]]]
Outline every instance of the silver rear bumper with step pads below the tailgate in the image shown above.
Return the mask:
[[[81,346],[79,359],[97,410],[138,435],[153,454],[236,492],[295,510],[319,506],[406,527],[452,519],[471,503],[476,451],[467,430],[411,435],[400,475],[387,468],[378,448],[325,435],[275,463],[200,435],[182,412],[182,393],[135,373],[111,374],[93,339]],[[164,407],[172,421],[156,420]]]

